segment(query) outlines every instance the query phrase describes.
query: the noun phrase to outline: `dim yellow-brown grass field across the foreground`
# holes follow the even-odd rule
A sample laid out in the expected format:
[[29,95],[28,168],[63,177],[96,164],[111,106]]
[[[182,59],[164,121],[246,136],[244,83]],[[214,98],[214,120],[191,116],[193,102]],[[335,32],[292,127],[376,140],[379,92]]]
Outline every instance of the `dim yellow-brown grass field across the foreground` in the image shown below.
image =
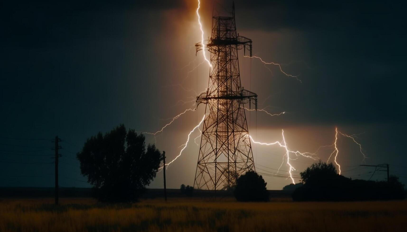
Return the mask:
[[268,202],[233,199],[0,200],[0,231],[405,231],[407,201]]

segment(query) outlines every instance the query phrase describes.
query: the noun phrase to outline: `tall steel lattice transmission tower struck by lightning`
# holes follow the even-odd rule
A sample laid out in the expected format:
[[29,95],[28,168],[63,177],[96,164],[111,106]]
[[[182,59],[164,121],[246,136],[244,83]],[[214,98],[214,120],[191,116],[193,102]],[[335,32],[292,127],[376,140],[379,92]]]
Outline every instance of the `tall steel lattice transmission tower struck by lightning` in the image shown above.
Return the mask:
[[[202,43],[195,44],[196,51]],[[254,170],[244,104],[253,102],[257,110],[257,95],[243,89],[239,74],[238,50],[249,50],[252,40],[236,33],[234,4],[228,17],[212,16],[212,35],[205,42],[210,51],[208,89],[197,97],[206,104],[201,145],[194,187],[197,189],[226,189],[236,178]],[[204,52],[204,51],[203,51]]]

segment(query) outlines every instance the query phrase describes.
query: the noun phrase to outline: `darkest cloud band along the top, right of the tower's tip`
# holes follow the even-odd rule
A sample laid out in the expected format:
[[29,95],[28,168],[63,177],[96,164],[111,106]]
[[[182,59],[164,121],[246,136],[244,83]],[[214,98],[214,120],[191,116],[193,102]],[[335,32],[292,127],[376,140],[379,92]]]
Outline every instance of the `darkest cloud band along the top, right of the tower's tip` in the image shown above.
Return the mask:
[[[222,4],[227,5],[226,3]],[[235,1],[236,11],[247,15],[239,26],[278,30],[337,30],[357,26],[405,34],[405,1]],[[256,14],[252,14],[256,12]]]

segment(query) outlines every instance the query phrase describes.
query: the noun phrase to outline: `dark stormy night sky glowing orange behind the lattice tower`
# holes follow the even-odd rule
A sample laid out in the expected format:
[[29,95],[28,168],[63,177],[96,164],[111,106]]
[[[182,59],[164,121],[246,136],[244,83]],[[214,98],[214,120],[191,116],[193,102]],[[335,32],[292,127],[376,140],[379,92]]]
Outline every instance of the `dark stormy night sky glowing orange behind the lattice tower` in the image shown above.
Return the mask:
[[[222,11],[232,3],[201,2],[207,39],[213,7]],[[250,134],[262,142],[281,141],[284,129],[291,150],[314,152],[333,143],[337,126],[358,134],[368,156],[363,164],[389,163],[390,174],[407,184],[406,2],[235,5],[238,33],[253,40],[253,54],[302,80],[239,53],[242,86],[258,94],[259,108],[287,112],[247,112]],[[164,119],[194,108],[188,101],[207,87],[209,76],[208,65],[199,65],[201,52],[195,56],[201,37],[196,8],[197,0],[0,3],[0,186],[53,186],[50,140],[58,135],[60,185],[89,187],[75,158],[88,137],[122,123],[155,132],[168,123]],[[179,154],[203,113],[200,105],[157,136],[168,160]],[[146,135],[146,141],[155,139]],[[338,145],[344,176],[369,179],[374,168],[357,166],[363,158],[359,147],[345,137]],[[280,166],[282,148],[252,146],[256,169]],[[190,142],[168,167],[168,188],[193,185],[198,152]],[[329,154],[323,150],[319,157],[326,161]],[[311,163],[292,160],[296,171]],[[384,179],[385,172],[372,176]],[[268,189],[290,183],[265,180]],[[162,173],[150,187],[162,187]]]

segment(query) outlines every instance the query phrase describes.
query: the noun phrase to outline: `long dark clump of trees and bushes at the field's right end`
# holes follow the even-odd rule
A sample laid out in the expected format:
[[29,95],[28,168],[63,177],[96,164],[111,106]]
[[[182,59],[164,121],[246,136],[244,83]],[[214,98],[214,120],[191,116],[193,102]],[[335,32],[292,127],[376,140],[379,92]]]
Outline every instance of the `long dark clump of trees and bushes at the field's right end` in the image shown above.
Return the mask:
[[337,173],[332,163],[321,160],[300,173],[302,187],[293,192],[295,201],[356,201],[403,199],[403,184],[395,176],[387,181],[352,180]]

